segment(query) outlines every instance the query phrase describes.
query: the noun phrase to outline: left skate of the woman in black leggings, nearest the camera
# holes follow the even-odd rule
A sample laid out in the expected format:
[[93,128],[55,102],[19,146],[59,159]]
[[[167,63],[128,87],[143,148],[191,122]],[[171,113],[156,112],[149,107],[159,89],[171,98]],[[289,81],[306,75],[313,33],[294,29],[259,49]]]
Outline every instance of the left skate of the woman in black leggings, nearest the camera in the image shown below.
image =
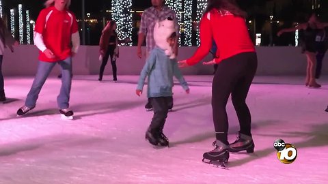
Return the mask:
[[215,149],[204,153],[202,161],[207,164],[213,164],[220,166],[221,168],[226,168],[226,163],[229,159],[228,145],[216,140],[213,142],[213,146]]

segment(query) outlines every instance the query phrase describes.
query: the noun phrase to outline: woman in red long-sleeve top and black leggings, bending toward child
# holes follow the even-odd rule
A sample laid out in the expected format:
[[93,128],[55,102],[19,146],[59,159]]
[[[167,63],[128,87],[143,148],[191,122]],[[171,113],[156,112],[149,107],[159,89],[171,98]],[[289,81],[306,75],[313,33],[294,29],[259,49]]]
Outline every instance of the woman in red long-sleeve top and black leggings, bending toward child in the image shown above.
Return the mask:
[[[209,0],[200,21],[201,45],[193,57],[179,61],[180,67],[195,65],[208,55],[213,40],[217,44],[217,56],[209,63],[217,63],[212,85],[212,108],[216,145],[213,151],[204,153],[204,159],[228,162],[229,151],[254,151],[251,138],[251,114],[245,102],[257,68],[253,42],[245,23],[245,12],[233,0]],[[229,145],[226,105],[229,95],[238,116],[240,131],[237,140]],[[203,159],[203,161],[204,161]]]

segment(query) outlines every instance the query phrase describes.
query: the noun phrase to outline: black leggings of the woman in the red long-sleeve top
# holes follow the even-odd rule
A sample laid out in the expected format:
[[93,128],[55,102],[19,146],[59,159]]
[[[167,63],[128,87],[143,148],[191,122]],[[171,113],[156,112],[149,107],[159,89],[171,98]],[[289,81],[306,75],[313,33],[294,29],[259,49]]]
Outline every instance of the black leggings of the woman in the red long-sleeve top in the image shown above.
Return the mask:
[[255,76],[258,59],[256,52],[244,52],[224,59],[217,65],[212,85],[213,121],[217,140],[228,144],[228,116],[226,105],[232,104],[238,116],[241,133],[251,136],[251,114],[246,97]]

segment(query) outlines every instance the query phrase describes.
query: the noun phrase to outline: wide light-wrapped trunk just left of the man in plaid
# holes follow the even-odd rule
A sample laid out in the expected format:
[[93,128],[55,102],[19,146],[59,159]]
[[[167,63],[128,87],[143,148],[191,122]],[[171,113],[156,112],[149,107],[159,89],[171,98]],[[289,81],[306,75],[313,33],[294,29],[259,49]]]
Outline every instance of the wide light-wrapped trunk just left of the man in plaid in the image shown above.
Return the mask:
[[[132,0],[112,0],[111,8],[112,18],[117,25],[118,39],[129,38],[132,40]],[[126,45],[132,46],[132,43]]]

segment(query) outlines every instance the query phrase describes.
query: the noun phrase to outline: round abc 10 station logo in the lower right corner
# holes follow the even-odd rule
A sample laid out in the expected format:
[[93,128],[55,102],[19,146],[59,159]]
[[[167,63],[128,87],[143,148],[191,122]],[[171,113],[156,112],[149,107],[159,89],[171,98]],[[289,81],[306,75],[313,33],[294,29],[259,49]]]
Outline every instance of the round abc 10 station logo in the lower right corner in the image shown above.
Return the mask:
[[292,164],[297,157],[297,149],[294,145],[285,143],[282,139],[277,139],[273,143],[273,147],[277,149],[277,157],[284,164]]

